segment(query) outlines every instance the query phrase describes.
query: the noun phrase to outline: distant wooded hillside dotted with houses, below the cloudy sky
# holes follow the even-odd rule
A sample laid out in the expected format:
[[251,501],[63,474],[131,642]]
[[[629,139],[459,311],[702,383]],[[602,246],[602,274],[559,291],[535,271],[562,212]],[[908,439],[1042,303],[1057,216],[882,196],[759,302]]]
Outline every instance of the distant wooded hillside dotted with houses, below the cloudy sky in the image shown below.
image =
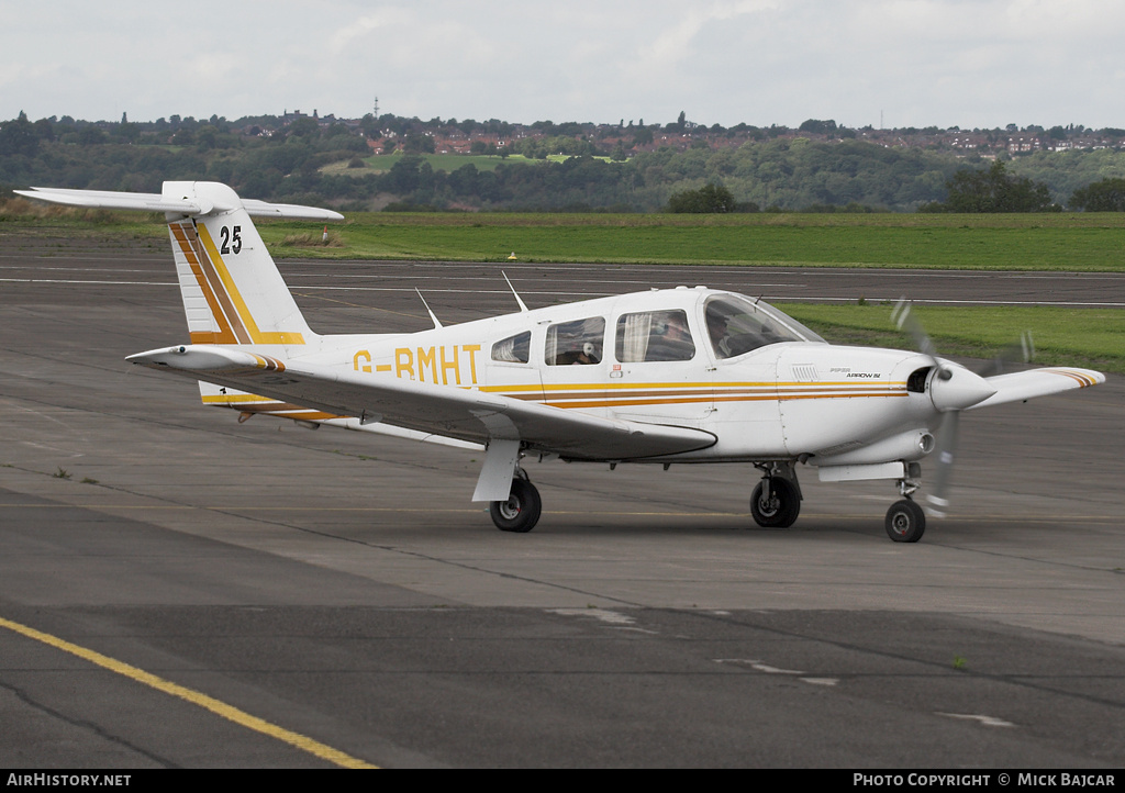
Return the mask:
[[912,211],[944,200],[958,170],[996,160],[1064,205],[1125,178],[1125,130],[798,127],[687,120],[616,124],[338,118],[286,110],[231,121],[172,116],[0,123],[0,183],[150,191],[212,179],[268,200],[344,209],[658,211],[721,184],[760,210]]

